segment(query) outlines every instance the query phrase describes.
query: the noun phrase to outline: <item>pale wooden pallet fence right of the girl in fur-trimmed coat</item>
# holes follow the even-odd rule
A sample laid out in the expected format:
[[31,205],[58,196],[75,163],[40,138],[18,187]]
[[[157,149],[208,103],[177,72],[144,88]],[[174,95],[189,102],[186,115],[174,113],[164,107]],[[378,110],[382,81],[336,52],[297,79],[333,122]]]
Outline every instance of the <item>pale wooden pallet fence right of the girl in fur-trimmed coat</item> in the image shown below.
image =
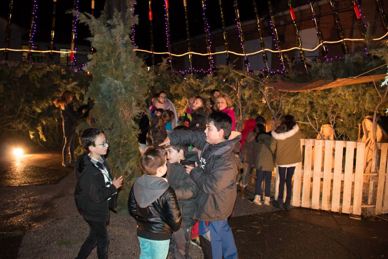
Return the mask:
[[[388,174],[385,173],[388,169],[388,143],[385,143],[385,147],[385,164],[380,165],[384,174],[379,175],[379,183],[383,184],[378,185],[377,191],[377,201],[381,203],[382,212],[388,210],[388,185],[384,185],[388,180]],[[301,150],[303,162],[298,163],[295,168],[291,205],[361,215],[365,143],[301,139]],[[383,180],[380,181],[380,178]],[[249,176],[251,188],[255,180],[256,177]],[[275,199],[278,196],[278,186],[279,174],[276,174]],[[376,209],[378,208],[380,207],[376,205]]]

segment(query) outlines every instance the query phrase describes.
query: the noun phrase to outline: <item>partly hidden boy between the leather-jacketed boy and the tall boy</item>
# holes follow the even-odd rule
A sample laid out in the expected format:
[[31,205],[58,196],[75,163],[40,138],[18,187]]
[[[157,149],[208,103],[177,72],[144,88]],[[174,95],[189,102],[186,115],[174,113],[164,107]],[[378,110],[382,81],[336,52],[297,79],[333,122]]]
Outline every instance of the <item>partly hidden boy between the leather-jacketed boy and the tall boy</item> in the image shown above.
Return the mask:
[[189,160],[194,161],[192,162],[194,164],[198,162],[198,153],[189,152],[189,146],[185,144],[175,144],[165,148],[168,160],[166,179],[177,195],[180,214],[182,214],[182,225],[178,231],[172,233],[169,252],[173,259],[188,259],[191,258],[189,256],[190,233],[195,222],[191,215],[199,189],[179,162]]

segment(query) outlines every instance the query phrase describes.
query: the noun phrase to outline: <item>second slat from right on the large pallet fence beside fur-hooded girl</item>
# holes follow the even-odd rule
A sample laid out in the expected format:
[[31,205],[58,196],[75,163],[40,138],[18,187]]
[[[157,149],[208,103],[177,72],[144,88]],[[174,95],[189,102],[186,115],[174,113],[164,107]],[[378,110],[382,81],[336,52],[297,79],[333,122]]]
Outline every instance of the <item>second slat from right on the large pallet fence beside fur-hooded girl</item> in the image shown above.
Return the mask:
[[331,211],[340,211],[341,182],[342,182],[342,158],[343,142],[336,141],[336,151],[334,155],[334,173],[333,173],[333,196],[331,198]]

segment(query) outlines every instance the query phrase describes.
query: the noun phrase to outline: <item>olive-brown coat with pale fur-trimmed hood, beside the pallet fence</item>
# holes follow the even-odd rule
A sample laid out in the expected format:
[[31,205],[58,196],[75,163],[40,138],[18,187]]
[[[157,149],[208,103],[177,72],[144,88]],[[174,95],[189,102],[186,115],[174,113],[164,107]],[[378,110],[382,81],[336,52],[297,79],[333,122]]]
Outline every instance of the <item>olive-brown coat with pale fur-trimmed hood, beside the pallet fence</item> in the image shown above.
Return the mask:
[[297,124],[287,132],[272,130],[271,135],[273,139],[270,147],[272,153],[276,155],[278,166],[302,162],[300,139],[304,139],[306,134],[300,131]]

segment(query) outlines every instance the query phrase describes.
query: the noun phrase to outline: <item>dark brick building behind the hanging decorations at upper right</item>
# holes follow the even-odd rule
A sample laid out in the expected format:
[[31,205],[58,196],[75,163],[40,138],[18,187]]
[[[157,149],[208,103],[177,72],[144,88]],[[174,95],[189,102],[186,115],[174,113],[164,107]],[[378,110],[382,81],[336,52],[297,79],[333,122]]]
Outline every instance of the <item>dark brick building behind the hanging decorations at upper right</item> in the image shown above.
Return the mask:
[[[267,49],[275,50],[275,42],[272,37],[272,29],[270,28],[270,15],[268,11],[267,1],[260,2],[260,7],[263,9],[258,10],[260,17],[260,26],[263,32],[263,38],[265,47]],[[296,2],[298,4],[296,4]],[[336,0],[334,1],[336,10],[340,17],[340,24],[343,28],[345,38],[364,38],[360,33],[359,23],[355,17],[353,10],[352,0]],[[388,0],[382,1],[385,6],[388,7]],[[303,48],[314,49],[319,44],[317,36],[317,30],[312,19],[312,11],[307,0],[292,1],[293,9],[296,16],[296,24],[299,29],[300,37],[302,40]],[[387,28],[383,24],[381,14],[379,11],[378,3],[376,0],[362,0],[360,1],[360,9],[362,12],[362,21],[365,24],[369,24],[369,30],[372,38],[379,38],[387,33]],[[275,26],[277,28],[280,45],[282,49],[289,49],[291,47],[297,47],[297,40],[294,31],[293,21],[291,20],[289,7],[286,0],[272,0]],[[253,7],[253,5],[252,5]],[[319,19],[320,29],[322,31],[325,41],[337,41],[340,40],[337,26],[334,20],[333,8],[328,0],[315,1],[316,14]],[[217,14],[219,15],[219,14]],[[244,33],[246,52],[252,53],[257,50],[261,50],[258,28],[255,19],[247,20],[241,23],[242,31]],[[237,53],[242,53],[242,47],[240,44],[239,31],[237,25],[228,26],[225,28],[227,33],[227,41],[229,50]],[[225,50],[222,29],[211,30],[211,52],[218,52]],[[363,51],[365,43],[360,41],[347,41],[349,53]],[[339,59],[344,56],[344,51],[341,43],[325,44],[327,46],[327,57],[329,59]],[[187,52],[187,40],[175,42],[172,45],[172,52],[174,54],[181,54]],[[191,37],[191,50],[194,52],[206,53],[206,41],[205,35],[197,35]],[[285,52],[290,59],[296,58],[296,68],[303,67],[303,62],[300,59],[299,50],[290,50]],[[278,53],[271,53],[267,51],[268,67],[270,70],[280,70],[281,63]],[[320,48],[313,52],[305,51],[305,56],[310,59],[320,59],[324,61],[324,56]],[[226,64],[226,54],[217,54],[213,56],[215,65]],[[230,60],[236,61],[236,68],[245,70],[244,58],[242,56],[236,56],[230,54]],[[248,56],[250,63],[249,70],[262,70],[265,68],[262,54],[256,54]],[[285,60],[285,63],[287,61]],[[196,69],[207,70],[209,68],[208,57],[193,55],[192,66]],[[188,55],[183,57],[173,58],[173,67],[176,70],[187,70],[190,68]],[[287,65],[286,65],[287,67]]]

